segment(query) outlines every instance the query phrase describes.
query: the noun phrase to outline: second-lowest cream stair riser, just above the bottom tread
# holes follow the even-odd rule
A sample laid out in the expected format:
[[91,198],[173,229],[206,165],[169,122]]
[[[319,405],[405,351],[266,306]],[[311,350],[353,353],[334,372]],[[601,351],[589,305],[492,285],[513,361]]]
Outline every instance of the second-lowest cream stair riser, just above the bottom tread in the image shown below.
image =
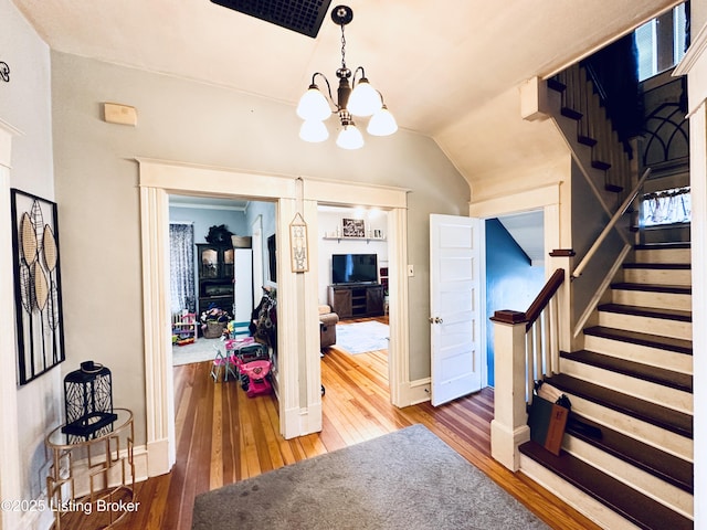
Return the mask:
[[621,480],[633,489],[687,518],[693,517],[694,497],[687,491],[571,435],[564,436],[562,447],[581,460]]

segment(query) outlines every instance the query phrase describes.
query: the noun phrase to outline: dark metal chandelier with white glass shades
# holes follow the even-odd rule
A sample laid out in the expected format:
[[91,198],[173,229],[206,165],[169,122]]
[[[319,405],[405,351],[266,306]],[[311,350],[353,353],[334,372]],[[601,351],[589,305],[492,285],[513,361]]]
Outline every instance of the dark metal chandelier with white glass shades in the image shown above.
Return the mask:
[[[329,137],[329,130],[324,121],[333,114],[338,114],[341,128],[336,145],[344,149],[359,149],[363,147],[363,135],[356,126],[354,116],[370,116],[366,130],[373,136],[392,135],[398,130],[398,124],[386,107],[380,92],[368,82],[363,67],[359,66],[351,72],[346,66],[344,28],[354,20],[354,11],[347,6],[337,6],[331,11],[331,20],[341,26],[341,67],[336,71],[336,76],[339,78],[337,100],[335,102],[331,96],[329,80],[324,74],[315,72],[309,88],[297,105],[297,116],[304,119],[299,128],[299,138],[312,142],[326,140]],[[360,77],[357,81],[359,74]],[[326,83],[326,95],[317,86],[317,77],[321,77]]]

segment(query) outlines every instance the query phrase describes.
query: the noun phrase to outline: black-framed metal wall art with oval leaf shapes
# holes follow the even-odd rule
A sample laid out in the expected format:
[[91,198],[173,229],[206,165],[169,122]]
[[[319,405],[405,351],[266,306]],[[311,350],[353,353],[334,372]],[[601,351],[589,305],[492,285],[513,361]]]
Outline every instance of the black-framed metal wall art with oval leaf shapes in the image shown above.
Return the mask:
[[18,383],[66,359],[56,203],[12,188]]

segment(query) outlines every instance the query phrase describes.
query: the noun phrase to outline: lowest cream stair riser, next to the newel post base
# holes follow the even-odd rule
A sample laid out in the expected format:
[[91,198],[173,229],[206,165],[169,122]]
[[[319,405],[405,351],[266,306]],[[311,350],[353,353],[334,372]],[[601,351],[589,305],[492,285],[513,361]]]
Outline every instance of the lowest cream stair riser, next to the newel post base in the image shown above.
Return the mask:
[[520,455],[520,471],[602,528],[639,530],[639,527],[526,455]]

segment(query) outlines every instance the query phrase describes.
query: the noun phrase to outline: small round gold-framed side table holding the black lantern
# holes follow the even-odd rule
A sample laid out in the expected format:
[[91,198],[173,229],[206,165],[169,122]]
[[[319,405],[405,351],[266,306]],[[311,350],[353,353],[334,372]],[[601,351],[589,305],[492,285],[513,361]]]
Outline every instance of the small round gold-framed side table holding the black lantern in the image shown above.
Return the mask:
[[[45,439],[52,452],[52,465],[46,477],[50,508],[54,512],[54,529],[64,524],[75,528],[113,528],[126,515],[136,511],[135,430],[133,412],[114,409],[117,420],[94,437],[64,434],[60,425]],[[76,498],[76,481],[87,495]],[[117,484],[116,484],[117,483]]]

